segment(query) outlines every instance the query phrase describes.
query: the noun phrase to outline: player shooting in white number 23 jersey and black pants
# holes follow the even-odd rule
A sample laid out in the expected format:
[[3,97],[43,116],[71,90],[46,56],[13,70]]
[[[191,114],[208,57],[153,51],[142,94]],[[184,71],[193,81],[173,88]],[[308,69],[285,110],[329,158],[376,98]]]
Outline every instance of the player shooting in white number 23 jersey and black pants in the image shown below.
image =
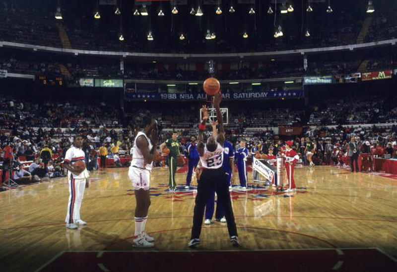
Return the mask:
[[201,175],[199,176],[196,205],[193,215],[193,228],[191,240],[188,246],[195,248],[200,243],[200,233],[202,217],[204,215],[205,204],[210,197],[213,189],[215,189],[218,199],[218,205],[225,212],[227,229],[229,231],[230,241],[233,246],[239,246],[236,223],[234,221],[232,204],[229,195],[229,185],[225,171],[223,170],[223,145],[225,143],[225,132],[223,129],[222,113],[220,112],[219,103],[221,94],[217,93],[214,96],[214,107],[216,109],[216,117],[218,120],[218,135],[216,139],[213,136],[208,137],[204,144],[203,131],[208,119],[207,107],[204,105],[201,108],[202,120],[199,124],[199,137],[197,149],[200,155]]

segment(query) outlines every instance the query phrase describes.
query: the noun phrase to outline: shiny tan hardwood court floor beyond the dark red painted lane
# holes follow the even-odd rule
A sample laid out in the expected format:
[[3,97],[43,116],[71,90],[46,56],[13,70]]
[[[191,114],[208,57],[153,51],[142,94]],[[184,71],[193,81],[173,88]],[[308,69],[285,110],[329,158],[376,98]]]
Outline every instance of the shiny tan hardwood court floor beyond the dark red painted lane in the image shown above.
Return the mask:
[[[183,171],[179,171],[183,172]],[[0,271],[35,271],[63,251],[134,251],[135,197],[128,168],[92,172],[81,207],[88,225],[65,228],[65,178],[0,193]],[[177,173],[183,186],[186,174]],[[249,173],[252,180],[252,173]],[[236,179],[237,181],[237,179]],[[295,170],[294,194],[233,191],[237,250],[379,248],[397,259],[397,181],[334,167]],[[195,192],[166,192],[168,169],[151,175],[146,230],[155,251],[188,251]],[[203,225],[202,250],[233,250],[225,223]],[[340,250],[341,249],[341,250]]]

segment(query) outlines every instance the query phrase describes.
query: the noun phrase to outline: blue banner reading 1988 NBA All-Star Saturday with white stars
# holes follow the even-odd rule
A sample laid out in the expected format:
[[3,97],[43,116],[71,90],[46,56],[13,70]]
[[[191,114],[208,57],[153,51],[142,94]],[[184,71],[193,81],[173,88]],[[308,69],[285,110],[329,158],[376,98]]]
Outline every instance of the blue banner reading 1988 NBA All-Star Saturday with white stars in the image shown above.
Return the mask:
[[[201,93],[152,93],[152,92],[126,92],[128,100],[204,100],[206,95]],[[303,90],[290,91],[262,91],[262,92],[231,92],[222,93],[222,99],[269,99],[269,98],[297,98],[304,97]]]

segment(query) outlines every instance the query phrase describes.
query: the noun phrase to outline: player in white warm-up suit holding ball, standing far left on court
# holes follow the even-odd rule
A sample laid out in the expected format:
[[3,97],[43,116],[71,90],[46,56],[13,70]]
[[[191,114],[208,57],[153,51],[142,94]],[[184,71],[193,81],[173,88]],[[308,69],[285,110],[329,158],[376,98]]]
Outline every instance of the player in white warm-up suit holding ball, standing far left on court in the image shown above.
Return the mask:
[[69,182],[69,202],[67,204],[66,228],[77,229],[76,225],[86,225],[87,223],[80,219],[80,207],[83,201],[86,179],[89,177],[87,169],[77,173],[73,164],[77,161],[84,161],[85,154],[82,151],[83,139],[77,136],[65,155],[64,165],[67,171],[67,180]]

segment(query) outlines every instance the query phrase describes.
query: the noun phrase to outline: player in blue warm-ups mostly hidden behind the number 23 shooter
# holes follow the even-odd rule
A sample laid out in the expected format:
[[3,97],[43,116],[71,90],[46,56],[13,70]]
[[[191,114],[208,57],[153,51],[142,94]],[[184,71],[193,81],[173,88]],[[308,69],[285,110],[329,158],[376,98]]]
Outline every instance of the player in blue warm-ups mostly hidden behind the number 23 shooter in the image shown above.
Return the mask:
[[[214,137],[216,137],[216,122],[212,123],[212,134]],[[231,186],[230,181],[234,181],[233,173],[234,173],[234,148],[233,145],[225,141],[225,144],[223,146],[223,163],[222,167],[223,170],[225,171],[226,177],[227,177],[227,183],[229,186]],[[215,206],[215,190],[212,191],[210,197],[207,200],[207,203],[205,205],[205,220],[204,224],[209,225],[211,224],[211,219],[212,215],[214,214],[214,206]],[[216,211],[215,211],[215,220],[220,221],[220,222],[226,222],[226,219],[223,217],[224,212],[220,208],[220,206],[217,204],[216,205]]]

